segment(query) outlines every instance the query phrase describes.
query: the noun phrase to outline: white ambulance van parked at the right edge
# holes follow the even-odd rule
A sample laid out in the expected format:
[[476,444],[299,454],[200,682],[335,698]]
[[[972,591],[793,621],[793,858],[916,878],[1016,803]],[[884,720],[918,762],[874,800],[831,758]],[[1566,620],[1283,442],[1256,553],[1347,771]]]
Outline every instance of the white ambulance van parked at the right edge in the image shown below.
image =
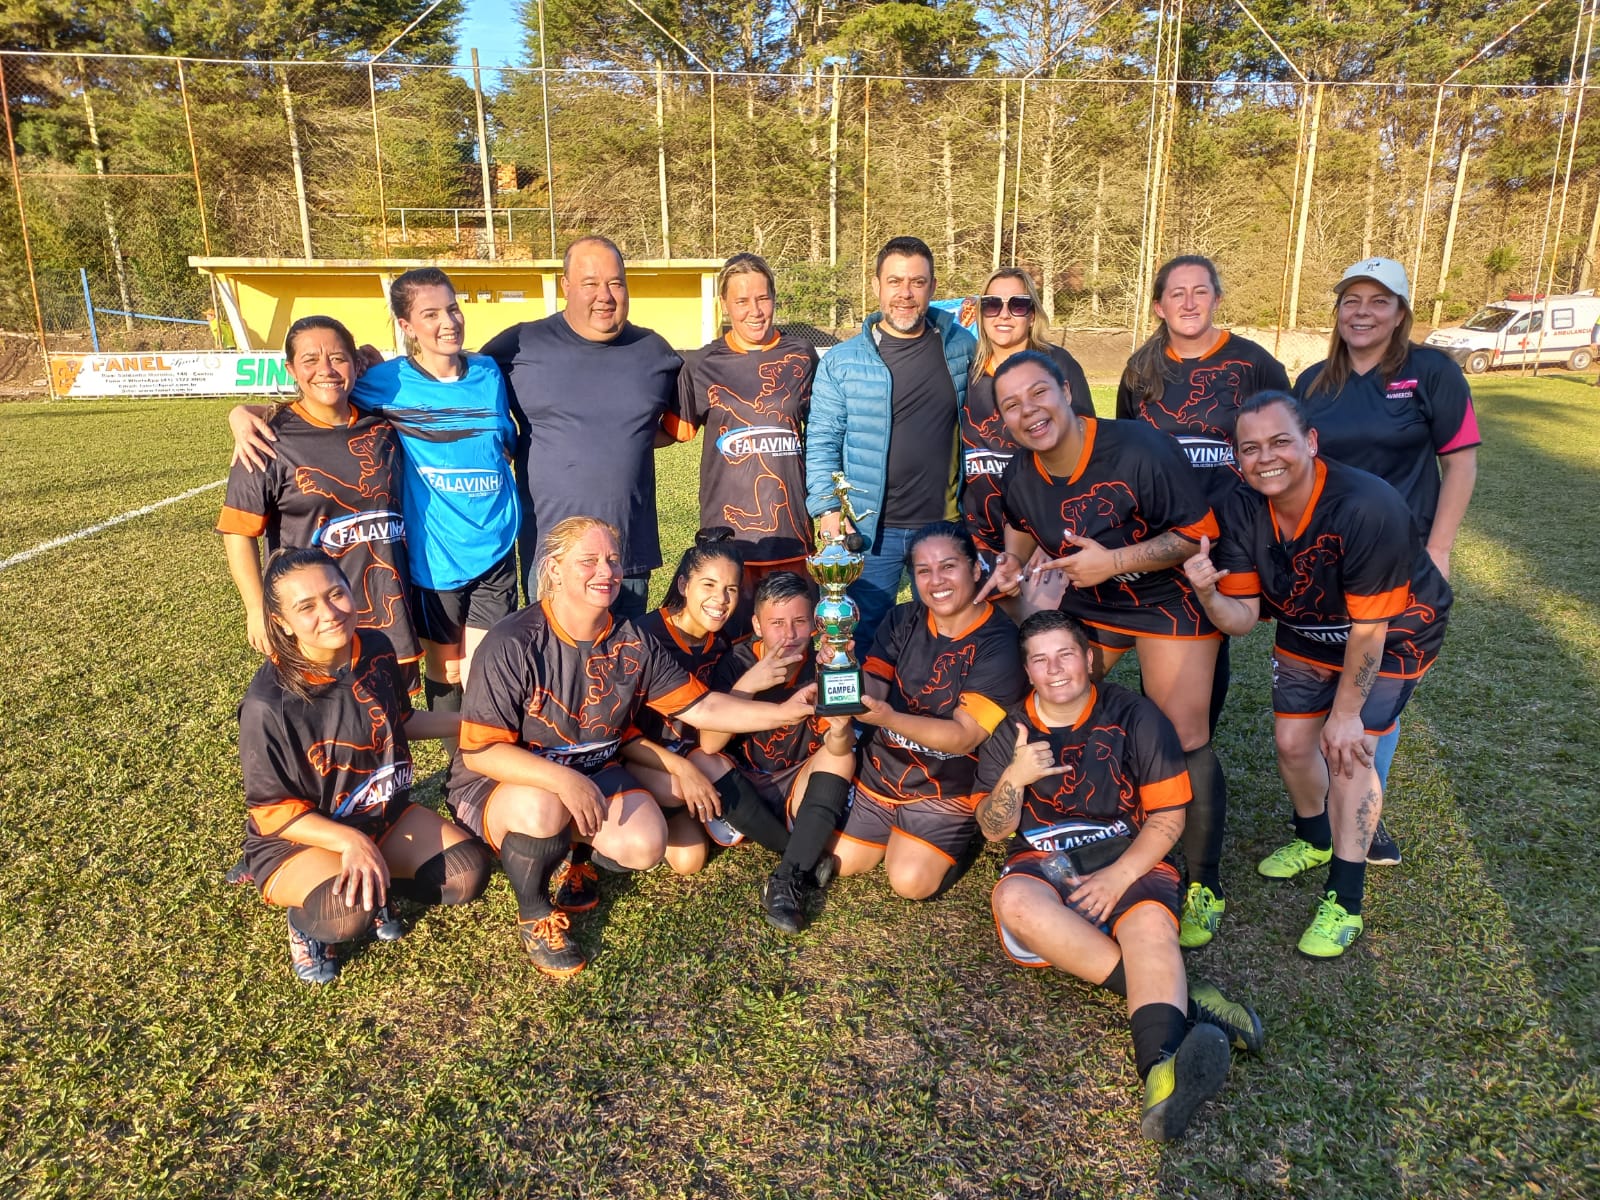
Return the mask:
[[1434,346],[1469,374],[1523,363],[1565,363],[1582,371],[1594,358],[1589,334],[1600,320],[1600,296],[1507,296],[1478,309],[1461,325],[1434,330]]

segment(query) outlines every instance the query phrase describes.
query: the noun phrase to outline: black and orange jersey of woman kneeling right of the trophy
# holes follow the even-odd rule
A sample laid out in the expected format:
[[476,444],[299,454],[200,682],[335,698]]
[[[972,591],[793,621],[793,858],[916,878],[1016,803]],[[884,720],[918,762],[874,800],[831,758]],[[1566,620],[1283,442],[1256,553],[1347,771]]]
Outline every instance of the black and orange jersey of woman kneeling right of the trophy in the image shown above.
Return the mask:
[[[890,685],[888,704],[896,712],[949,718],[962,709],[990,733],[1027,690],[1016,626],[987,603],[958,637],[944,637],[918,600],[896,605],[861,666]],[[973,808],[976,770],[976,752],[931,750],[874,728],[856,786],[888,805],[955,800]]]

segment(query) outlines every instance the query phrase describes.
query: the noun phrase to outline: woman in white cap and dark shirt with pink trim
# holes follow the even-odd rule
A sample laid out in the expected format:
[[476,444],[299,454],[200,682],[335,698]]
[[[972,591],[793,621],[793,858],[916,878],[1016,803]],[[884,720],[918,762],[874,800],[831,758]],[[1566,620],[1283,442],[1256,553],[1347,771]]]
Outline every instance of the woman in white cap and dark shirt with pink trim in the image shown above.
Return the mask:
[[[1294,395],[1322,454],[1390,483],[1411,507],[1427,554],[1450,578],[1450,550],[1478,477],[1478,419],[1461,368],[1411,342],[1411,282],[1390,258],[1350,266],[1334,286],[1328,357],[1306,368]],[[1398,726],[1378,746],[1389,782]],[[1382,824],[1368,862],[1397,864]]]

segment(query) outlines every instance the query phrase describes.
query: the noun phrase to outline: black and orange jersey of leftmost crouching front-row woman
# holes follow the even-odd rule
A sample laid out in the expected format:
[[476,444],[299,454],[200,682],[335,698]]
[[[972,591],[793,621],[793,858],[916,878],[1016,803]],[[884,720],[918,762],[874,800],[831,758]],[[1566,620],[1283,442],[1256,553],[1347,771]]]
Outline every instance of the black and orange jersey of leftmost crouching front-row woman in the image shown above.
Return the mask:
[[266,662],[238,706],[246,859],[272,858],[266,843],[307,813],[366,826],[410,800],[411,702],[389,638],[357,634],[350,664],[314,683],[304,701]]

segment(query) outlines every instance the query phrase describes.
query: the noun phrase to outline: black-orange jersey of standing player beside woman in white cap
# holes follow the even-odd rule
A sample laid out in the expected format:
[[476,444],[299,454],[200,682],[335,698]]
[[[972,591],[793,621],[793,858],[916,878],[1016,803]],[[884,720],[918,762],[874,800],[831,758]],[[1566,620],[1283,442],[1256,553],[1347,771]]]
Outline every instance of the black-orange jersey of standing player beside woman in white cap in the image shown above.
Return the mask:
[[1160,395],[1146,397],[1134,395],[1126,379],[1118,384],[1117,419],[1147,421],[1178,438],[1218,507],[1240,486],[1234,462],[1238,406],[1256,392],[1290,390],[1290,376],[1266,347],[1224,331],[1198,358],[1182,358],[1168,346],[1162,382]]

